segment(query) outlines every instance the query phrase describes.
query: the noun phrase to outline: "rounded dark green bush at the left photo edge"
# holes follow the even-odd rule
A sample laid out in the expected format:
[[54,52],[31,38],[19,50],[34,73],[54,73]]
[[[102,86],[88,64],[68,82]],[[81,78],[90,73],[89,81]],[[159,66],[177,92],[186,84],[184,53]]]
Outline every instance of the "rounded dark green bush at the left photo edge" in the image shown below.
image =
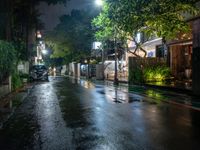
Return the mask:
[[0,82],[14,71],[16,60],[14,46],[11,43],[0,41]]

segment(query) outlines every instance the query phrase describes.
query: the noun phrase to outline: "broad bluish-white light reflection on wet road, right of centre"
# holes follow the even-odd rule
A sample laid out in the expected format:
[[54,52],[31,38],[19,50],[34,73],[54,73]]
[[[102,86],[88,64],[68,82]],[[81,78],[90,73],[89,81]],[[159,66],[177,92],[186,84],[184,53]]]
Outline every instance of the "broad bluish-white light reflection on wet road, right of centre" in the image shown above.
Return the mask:
[[[96,90],[93,94],[96,108],[91,118],[93,118],[94,125],[99,130],[99,134],[104,137],[104,140],[99,143],[100,147],[107,149],[143,149],[144,143],[149,141],[148,129],[145,126],[146,114],[141,107],[142,103],[128,104],[121,101],[124,104],[116,105],[113,97],[117,97],[120,101],[120,99],[127,99],[129,94],[118,91],[116,88],[103,86]],[[102,90],[104,92],[99,92]],[[134,97],[134,95],[132,96]],[[142,139],[139,140],[138,137],[142,137]]]

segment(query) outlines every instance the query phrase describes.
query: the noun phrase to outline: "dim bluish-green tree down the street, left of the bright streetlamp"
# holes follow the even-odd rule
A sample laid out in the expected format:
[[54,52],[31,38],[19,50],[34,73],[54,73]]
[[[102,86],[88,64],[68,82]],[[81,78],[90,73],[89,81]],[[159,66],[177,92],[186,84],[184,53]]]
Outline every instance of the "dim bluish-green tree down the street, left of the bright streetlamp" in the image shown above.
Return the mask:
[[90,56],[93,42],[92,14],[73,10],[60,17],[60,23],[46,36],[47,45],[53,50],[53,58],[63,58],[65,63],[83,61]]

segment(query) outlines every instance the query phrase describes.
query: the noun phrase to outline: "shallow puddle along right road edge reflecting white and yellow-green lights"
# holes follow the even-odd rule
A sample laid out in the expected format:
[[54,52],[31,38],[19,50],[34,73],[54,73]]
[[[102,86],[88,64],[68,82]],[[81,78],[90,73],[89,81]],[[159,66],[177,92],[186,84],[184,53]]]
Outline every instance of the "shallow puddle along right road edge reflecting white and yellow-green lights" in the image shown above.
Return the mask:
[[[166,92],[145,88],[143,86],[114,87],[113,85],[95,85],[91,81],[82,79],[71,80],[73,84],[78,84],[86,89],[96,89],[97,93],[103,95],[105,99],[111,103],[123,104],[134,102],[147,102],[149,104],[156,105],[160,104],[162,101],[174,101],[174,96],[170,96],[170,94],[166,94]],[[187,101],[187,98],[185,100],[185,103],[189,103]]]

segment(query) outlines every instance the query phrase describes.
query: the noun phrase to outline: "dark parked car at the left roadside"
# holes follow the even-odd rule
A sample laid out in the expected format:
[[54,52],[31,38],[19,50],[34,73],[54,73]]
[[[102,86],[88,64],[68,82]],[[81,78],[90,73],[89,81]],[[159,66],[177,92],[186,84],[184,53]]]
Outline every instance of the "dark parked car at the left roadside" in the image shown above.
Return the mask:
[[48,81],[48,69],[45,65],[34,65],[30,69],[30,80]]

